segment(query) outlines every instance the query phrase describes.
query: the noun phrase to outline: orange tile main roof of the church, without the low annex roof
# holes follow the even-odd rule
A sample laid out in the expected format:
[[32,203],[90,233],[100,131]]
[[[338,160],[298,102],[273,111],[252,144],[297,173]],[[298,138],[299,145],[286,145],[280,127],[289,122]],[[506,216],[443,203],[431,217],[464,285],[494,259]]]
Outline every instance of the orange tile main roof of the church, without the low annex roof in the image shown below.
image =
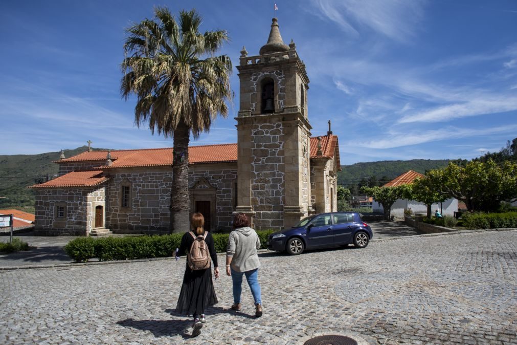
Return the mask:
[[[317,155],[317,138],[311,138],[311,158],[333,158],[338,137],[322,136],[322,155]],[[77,156],[57,160],[56,163],[84,162],[84,161],[104,161],[108,155],[107,151],[83,152]],[[147,148],[131,150],[111,151],[111,166],[102,165],[95,169],[113,169],[129,167],[160,167],[172,166],[172,147],[167,148]],[[338,152],[338,167],[341,167]],[[224,163],[237,161],[237,144],[219,144],[189,146],[189,163]]]

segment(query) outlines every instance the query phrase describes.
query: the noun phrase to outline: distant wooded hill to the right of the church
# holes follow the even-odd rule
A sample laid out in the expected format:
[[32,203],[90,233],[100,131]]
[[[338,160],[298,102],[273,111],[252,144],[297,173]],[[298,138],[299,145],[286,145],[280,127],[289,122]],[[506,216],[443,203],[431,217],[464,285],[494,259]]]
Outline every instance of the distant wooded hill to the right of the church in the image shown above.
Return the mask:
[[386,176],[391,179],[400,174],[414,170],[421,174],[431,169],[446,167],[448,159],[413,159],[413,160],[381,160],[377,162],[355,163],[349,166],[341,166],[342,171],[338,173],[339,185],[357,185],[363,178],[376,176],[377,180]]

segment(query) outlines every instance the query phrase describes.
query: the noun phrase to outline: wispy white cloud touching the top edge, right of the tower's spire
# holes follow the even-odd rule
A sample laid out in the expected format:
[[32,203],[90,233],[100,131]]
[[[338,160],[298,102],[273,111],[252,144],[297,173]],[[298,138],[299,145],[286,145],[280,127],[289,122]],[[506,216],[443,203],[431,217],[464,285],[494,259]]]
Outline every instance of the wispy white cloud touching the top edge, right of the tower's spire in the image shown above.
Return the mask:
[[362,26],[387,37],[405,41],[415,34],[423,17],[421,0],[312,0],[323,16],[347,34],[357,36]]

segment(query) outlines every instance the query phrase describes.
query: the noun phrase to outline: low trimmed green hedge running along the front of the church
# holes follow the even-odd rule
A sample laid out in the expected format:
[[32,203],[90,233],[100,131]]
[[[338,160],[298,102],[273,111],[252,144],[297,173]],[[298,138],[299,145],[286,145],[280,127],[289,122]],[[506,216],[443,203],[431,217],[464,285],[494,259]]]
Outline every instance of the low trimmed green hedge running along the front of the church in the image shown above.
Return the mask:
[[[266,248],[272,230],[257,231],[261,249]],[[226,252],[229,234],[212,234],[218,253]],[[100,261],[164,258],[173,255],[183,237],[181,234],[124,237],[79,237],[70,241],[65,252],[77,262],[98,258]]]

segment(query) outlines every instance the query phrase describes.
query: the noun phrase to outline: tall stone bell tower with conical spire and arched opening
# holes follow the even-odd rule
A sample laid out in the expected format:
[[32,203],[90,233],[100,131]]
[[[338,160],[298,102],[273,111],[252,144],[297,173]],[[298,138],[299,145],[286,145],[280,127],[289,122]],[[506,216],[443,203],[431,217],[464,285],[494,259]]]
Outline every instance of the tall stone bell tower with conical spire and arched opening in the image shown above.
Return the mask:
[[305,65],[273,18],[259,55],[243,47],[237,69],[236,212],[251,217],[255,229],[291,227],[312,211]]

